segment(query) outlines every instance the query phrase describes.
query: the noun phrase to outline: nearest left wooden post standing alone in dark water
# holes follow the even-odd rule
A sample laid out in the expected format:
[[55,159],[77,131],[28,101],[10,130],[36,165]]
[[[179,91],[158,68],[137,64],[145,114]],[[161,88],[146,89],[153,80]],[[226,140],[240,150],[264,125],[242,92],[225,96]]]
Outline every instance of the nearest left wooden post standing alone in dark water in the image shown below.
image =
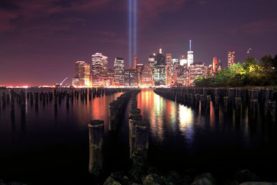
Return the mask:
[[89,123],[89,173],[98,177],[103,170],[104,121]]

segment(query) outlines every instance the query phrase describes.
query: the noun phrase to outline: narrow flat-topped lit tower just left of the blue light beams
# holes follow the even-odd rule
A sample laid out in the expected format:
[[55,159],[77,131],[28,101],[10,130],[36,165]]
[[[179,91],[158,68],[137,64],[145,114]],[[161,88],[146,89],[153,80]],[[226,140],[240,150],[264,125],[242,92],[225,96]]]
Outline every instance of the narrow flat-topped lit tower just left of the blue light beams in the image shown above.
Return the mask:
[[124,85],[124,60],[123,58],[116,58],[114,60],[114,85]]

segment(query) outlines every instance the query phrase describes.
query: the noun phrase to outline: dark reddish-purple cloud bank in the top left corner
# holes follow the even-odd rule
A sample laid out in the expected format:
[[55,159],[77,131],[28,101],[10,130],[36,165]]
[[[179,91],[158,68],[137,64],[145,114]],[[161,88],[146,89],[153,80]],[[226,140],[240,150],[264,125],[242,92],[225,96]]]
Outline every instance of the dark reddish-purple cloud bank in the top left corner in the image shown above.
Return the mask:
[[[101,12],[108,3],[115,0],[101,1],[63,1],[63,0],[24,0],[24,1],[2,1],[0,9],[0,33],[16,28],[18,22],[28,24],[33,19],[43,19],[51,15],[62,15],[64,12],[72,12],[72,17],[66,17],[66,21],[82,21],[80,18],[73,17],[74,13],[93,13]],[[116,6],[109,6],[116,8]],[[106,8],[107,9],[107,8]],[[20,21],[19,21],[20,20]]]

